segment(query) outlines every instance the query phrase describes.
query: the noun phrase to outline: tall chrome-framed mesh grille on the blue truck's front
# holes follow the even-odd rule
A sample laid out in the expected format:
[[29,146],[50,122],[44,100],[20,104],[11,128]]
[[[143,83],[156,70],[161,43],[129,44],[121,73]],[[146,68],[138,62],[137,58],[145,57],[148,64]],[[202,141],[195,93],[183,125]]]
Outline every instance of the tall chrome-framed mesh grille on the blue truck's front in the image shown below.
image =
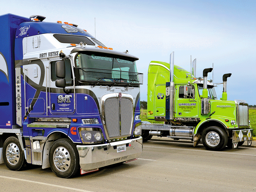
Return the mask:
[[104,102],[105,124],[109,138],[130,135],[133,122],[133,103],[129,98],[110,97]]

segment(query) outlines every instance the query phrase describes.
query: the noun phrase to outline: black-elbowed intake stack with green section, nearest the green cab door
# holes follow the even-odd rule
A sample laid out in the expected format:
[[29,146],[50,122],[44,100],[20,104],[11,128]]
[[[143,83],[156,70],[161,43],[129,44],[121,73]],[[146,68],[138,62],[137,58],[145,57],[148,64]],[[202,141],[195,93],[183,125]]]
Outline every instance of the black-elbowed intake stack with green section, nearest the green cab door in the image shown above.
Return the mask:
[[207,76],[208,73],[212,71],[212,68],[206,68],[203,71],[203,77],[204,77],[204,89],[203,89],[203,95],[201,100],[201,114],[207,115],[210,112],[209,107],[209,99],[208,99],[208,90],[207,90]]

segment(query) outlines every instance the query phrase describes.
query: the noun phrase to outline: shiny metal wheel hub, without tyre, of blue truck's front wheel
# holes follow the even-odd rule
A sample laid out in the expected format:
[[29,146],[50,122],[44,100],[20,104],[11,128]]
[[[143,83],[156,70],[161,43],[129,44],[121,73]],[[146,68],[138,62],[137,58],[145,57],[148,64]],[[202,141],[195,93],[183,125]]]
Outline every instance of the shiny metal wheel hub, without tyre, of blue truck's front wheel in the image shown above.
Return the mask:
[[60,171],[67,171],[70,165],[70,155],[66,148],[58,147],[53,154],[55,167]]

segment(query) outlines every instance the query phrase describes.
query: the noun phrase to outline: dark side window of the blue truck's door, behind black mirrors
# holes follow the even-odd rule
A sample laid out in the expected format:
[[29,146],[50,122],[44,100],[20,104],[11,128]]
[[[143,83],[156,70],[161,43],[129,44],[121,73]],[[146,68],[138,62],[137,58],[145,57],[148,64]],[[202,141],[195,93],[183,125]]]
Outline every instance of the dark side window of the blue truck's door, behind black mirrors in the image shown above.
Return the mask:
[[[59,79],[58,77],[56,77],[56,70],[55,70],[55,63],[56,61],[52,61],[51,62],[51,80],[52,81],[56,81],[57,79]],[[71,70],[71,62],[69,59],[65,60],[65,70],[66,70],[66,86],[73,86],[73,74],[72,74],[72,70]]]

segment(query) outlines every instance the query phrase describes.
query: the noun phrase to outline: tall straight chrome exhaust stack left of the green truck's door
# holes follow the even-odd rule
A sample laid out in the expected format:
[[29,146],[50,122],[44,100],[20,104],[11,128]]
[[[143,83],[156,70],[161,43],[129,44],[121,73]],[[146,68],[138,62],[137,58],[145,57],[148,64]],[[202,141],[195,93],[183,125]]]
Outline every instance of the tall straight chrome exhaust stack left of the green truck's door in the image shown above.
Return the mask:
[[174,52],[170,54],[170,82],[166,82],[166,92],[165,92],[165,119],[173,119],[174,108],[174,80],[173,80],[173,71],[174,71]]

